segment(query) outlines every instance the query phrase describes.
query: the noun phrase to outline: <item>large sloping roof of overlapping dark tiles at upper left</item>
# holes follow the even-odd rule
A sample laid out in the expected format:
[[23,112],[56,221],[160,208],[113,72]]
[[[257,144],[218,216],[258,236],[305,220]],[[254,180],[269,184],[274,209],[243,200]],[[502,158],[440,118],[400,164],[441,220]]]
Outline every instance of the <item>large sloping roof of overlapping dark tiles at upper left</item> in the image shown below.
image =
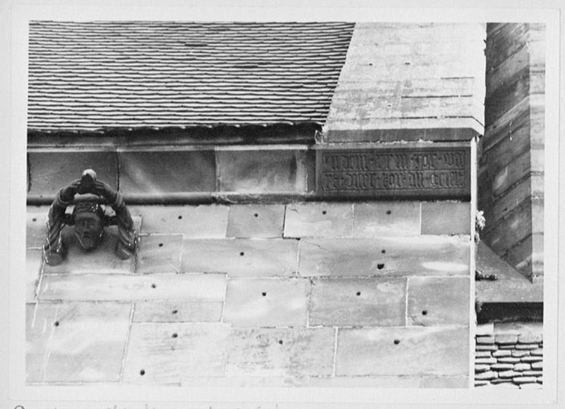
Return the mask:
[[353,27],[32,21],[28,128],[321,124]]

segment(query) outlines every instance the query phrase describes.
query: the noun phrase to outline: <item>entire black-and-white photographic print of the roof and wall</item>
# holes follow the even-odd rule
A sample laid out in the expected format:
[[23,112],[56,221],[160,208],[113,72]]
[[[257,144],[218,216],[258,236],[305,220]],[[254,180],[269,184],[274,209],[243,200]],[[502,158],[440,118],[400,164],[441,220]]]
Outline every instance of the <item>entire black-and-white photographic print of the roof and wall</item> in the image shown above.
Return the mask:
[[72,16],[18,74],[23,388],[554,391],[547,19]]

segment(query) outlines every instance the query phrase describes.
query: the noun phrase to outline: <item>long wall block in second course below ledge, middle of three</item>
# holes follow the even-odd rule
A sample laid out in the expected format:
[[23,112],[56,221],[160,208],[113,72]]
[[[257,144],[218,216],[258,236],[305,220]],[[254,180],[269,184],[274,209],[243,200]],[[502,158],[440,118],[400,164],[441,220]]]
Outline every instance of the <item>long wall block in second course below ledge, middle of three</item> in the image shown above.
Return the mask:
[[290,277],[296,271],[297,254],[294,239],[185,239],[181,271]]

